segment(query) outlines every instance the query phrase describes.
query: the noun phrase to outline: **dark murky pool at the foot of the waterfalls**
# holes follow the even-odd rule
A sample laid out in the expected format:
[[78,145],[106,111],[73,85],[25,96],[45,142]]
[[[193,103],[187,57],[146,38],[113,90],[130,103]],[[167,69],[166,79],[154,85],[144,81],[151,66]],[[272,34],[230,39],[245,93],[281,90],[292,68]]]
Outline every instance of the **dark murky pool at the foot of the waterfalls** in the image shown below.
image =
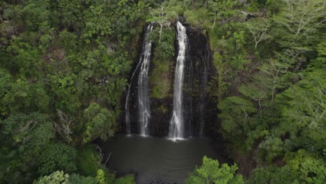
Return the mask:
[[200,166],[204,155],[227,162],[212,146],[212,139],[193,137],[172,141],[158,137],[116,135],[98,142],[110,158],[107,167],[123,174],[136,174],[137,183],[185,183],[189,173]]

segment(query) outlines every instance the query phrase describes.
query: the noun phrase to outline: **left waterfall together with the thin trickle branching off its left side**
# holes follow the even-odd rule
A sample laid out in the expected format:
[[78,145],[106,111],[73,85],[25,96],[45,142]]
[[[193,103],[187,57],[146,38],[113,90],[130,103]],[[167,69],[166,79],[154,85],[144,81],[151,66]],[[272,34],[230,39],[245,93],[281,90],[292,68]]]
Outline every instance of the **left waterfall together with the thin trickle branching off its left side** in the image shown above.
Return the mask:
[[152,47],[152,42],[147,40],[148,33],[152,31],[153,25],[149,24],[146,29],[146,33],[143,40],[143,45],[141,48],[141,56],[139,58],[139,63],[136,66],[136,69],[132,73],[132,77],[130,78],[130,84],[128,86],[127,95],[125,99],[125,130],[127,135],[131,134],[130,130],[130,91],[132,87],[132,80],[134,75],[136,74],[139,66],[141,66],[141,71],[139,72],[138,77],[138,98],[139,98],[139,122],[141,127],[141,135],[147,135],[148,131],[148,121],[150,118],[150,110],[149,110],[149,98],[148,98],[148,69],[150,62],[150,52]]

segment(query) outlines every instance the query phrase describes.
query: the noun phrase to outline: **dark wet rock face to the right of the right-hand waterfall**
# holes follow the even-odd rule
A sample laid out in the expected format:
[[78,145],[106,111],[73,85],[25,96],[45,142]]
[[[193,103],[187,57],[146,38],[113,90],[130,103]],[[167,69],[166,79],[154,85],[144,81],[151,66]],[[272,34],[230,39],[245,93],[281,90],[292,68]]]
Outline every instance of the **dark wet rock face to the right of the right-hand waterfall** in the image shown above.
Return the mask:
[[208,82],[212,77],[212,56],[208,38],[200,29],[187,26],[189,40],[188,57],[185,67],[184,105],[185,121],[189,136],[205,135],[206,122],[212,114],[208,113]]

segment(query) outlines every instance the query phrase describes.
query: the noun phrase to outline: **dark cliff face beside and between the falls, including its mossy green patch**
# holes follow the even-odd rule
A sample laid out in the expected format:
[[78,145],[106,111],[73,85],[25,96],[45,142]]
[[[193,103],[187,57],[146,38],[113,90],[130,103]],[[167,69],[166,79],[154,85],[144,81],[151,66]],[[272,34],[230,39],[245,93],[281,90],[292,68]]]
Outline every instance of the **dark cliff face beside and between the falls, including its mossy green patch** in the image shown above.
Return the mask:
[[[185,61],[183,85],[184,122],[187,136],[205,135],[208,124],[215,118],[216,107],[208,95],[208,84],[215,71],[212,69],[212,56],[208,38],[200,29],[194,29],[182,22],[187,29],[188,48]],[[171,24],[176,34],[176,25]],[[173,81],[178,56],[178,40],[174,39],[175,54],[170,59],[158,59],[157,45],[153,44],[150,59],[150,135],[164,137],[169,132],[169,122],[173,113]],[[137,61],[138,62],[138,61]],[[132,72],[136,69],[134,66]],[[136,71],[135,76],[139,75]],[[137,79],[134,77],[130,91],[130,127],[132,133],[139,133],[137,99]],[[208,108],[210,107],[210,108]],[[124,113],[122,114],[125,115]],[[125,127],[124,118],[120,119]]]

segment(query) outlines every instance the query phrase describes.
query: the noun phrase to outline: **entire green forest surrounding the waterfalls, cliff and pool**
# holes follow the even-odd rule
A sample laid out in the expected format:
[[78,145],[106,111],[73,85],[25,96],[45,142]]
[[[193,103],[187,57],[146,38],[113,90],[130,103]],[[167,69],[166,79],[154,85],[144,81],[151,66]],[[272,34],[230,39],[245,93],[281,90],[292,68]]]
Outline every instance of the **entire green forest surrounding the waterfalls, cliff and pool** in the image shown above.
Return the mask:
[[92,143],[118,117],[143,25],[155,22],[161,98],[180,16],[209,38],[209,84],[235,164],[186,183],[326,183],[325,0],[0,2],[0,183],[134,183]]

